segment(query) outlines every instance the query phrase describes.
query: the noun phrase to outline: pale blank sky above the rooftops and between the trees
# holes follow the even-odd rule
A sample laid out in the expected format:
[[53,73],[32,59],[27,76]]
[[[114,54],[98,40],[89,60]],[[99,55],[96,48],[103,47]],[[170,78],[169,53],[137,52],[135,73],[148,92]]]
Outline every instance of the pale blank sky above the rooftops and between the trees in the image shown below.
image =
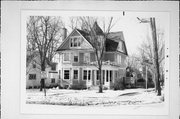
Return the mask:
[[[111,29],[111,32],[123,31],[124,39],[127,47],[127,51],[129,55],[138,54],[138,48],[142,44],[144,40],[146,40],[147,35],[151,37],[151,28],[148,23],[140,23],[137,19],[139,18],[149,18],[152,13],[132,13],[128,12],[127,15],[116,15],[113,14],[113,23],[115,25]],[[90,16],[93,16],[90,14]],[[109,14],[101,14],[99,16],[105,16],[106,18],[111,16]],[[168,19],[167,13],[153,13],[153,16],[156,18],[156,28],[162,29],[165,32],[168,32]],[[69,25],[69,16],[64,16],[63,20],[65,22],[65,26]],[[106,22],[107,23],[107,22]],[[100,25],[102,28],[102,25]],[[68,29],[68,28],[67,28]],[[68,29],[70,33],[70,29]]]

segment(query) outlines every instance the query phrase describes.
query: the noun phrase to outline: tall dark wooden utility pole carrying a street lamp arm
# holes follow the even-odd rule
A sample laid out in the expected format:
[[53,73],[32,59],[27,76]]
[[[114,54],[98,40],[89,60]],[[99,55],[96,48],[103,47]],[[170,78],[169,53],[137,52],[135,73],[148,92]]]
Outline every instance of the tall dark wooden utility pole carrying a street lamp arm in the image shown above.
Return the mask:
[[158,91],[158,95],[161,95],[155,18],[150,18],[150,22],[151,22],[151,28],[152,28],[152,39],[153,39],[153,50],[154,50],[155,80],[157,82],[156,89]]

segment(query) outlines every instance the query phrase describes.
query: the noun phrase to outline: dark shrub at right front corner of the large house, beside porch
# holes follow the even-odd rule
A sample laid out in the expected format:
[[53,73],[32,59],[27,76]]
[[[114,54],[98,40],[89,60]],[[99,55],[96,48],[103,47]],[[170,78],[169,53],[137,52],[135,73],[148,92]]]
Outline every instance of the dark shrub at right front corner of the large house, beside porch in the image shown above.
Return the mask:
[[124,90],[123,78],[115,80],[113,89],[114,90]]

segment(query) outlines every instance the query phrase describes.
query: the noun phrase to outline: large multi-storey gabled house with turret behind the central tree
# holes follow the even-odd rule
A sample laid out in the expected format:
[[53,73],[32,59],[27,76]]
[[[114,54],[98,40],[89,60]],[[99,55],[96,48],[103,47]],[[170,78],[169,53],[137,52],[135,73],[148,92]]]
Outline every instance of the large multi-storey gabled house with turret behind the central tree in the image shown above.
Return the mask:
[[[57,63],[61,86],[99,85],[99,71],[94,65],[97,63],[96,56],[88,37],[85,31],[74,29],[58,48]],[[99,38],[102,36],[99,35]],[[109,33],[101,72],[104,86],[110,88],[115,80],[125,76],[127,55],[123,32]]]

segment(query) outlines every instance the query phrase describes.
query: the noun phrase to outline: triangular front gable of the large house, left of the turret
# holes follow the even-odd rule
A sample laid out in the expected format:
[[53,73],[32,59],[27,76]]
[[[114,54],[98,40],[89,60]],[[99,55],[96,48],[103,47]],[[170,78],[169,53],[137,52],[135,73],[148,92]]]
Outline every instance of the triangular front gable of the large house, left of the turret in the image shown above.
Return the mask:
[[[79,47],[71,47],[72,38],[78,38],[80,42]],[[72,33],[64,40],[57,51],[72,50],[72,49],[92,49],[91,44],[87,39],[77,30],[73,30]]]

